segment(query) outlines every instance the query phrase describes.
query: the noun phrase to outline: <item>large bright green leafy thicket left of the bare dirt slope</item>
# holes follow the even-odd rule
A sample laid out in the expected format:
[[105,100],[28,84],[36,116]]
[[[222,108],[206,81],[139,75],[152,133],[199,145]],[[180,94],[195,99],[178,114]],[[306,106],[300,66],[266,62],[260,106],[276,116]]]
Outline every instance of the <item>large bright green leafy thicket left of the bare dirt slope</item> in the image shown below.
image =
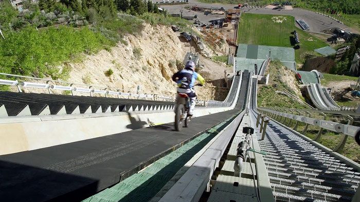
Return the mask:
[[8,74],[43,77],[56,66],[82,52],[96,52],[108,44],[104,36],[83,27],[67,26],[40,29],[27,26],[17,32],[7,32],[0,40],[0,71]]

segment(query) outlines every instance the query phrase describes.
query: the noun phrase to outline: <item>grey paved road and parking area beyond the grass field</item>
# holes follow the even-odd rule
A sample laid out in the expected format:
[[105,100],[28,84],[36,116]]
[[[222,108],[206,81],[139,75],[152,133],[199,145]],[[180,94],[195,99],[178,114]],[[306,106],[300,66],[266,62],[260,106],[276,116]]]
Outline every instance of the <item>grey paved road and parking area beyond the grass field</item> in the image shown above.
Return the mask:
[[[160,1],[159,1],[160,2]],[[165,8],[169,11],[169,13],[180,13],[180,9],[184,9],[186,6],[202,6],[202,7],[223,7],[224,9],[232,9],[236,7],[235,4],[207,4],[207,3],[200,3],[196,2],[194,0],[189,0],[189,4],[183,4],[183,5],[173,5],[173,6],[165,6],[161,5],[160,7]],[[303,20],[310,26],[311,32],[321,32],[325,29],[331,29],[335,27],[340,27],[344,29],[348,29],[349,27],[340,24],[332,19],[330,17],[317,14],[313,11],[304,10],[300,8],[294,8],[293,10],[273,10],[269,8],[242,8],[243,11],[248,13],[259,13],[259,14],[281,14],[281,15],[292,15],[295,17],[295,20]],[[200,21],[207,23],[212,20],[221,19],[224,17],[224,15],[204,15],[204,13],[201,12],[194,12],[194,11],[188,11],[184,9],[183,16],[193,16],[197,14],[197,17]],[[351,30],[355,32],[354,30]]]

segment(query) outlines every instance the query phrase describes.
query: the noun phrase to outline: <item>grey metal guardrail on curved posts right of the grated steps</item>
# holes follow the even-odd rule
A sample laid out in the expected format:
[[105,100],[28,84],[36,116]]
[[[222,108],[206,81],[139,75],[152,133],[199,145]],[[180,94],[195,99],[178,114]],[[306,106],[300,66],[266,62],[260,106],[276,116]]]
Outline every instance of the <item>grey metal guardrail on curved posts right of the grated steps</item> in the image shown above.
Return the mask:
[[[351,117],[349,118],[348,124],[343,124],[343,123],[337,123],[337,122],[332,122],[332,121],[327,121],[327,120],[320,120],[320,119],[311,118],[311,117],[304,117],[304,116],[300,116],[300,115],[287,114],[287,113],[273,111],[273,110],[266,109],[266,108],[258,108],[258,111],[273,118],[273,119],[277,119],[280,117],[281,118],[279,120],[280,122],[281,122],[282,118],[284,118],[283,123],[285,123],[285,120],[287,118],[287,119],[290,119],[290,121],[295,120],[297,122],[299,122],[299,121],[303,122],[303,123],[307,124],[307,126],[308,125],[318,126],[318,127],[320,127],[320,130],[326,129],[328,131],[342,133],[343,137],[341,137],[340,142],[335,147],[335,149],[334,149],[335,152],[341,151],[344,148],[345,142],[346,142],[348,136],[355,138],[355,137],[358,137],[360,134],[360,127],[351,125],[351,123],[353,121],[353,119]],[[352,121],[351,121],[351,119],[352,119]],[[290,125],[290,121],[287,125]],[[303,134],[307,131],[307,128],[308,128],[307,126],[305,126],[305,129],[302,132]],[[319,133],[316,138],[320,138],[320,135],[321,135],[321,133]]]

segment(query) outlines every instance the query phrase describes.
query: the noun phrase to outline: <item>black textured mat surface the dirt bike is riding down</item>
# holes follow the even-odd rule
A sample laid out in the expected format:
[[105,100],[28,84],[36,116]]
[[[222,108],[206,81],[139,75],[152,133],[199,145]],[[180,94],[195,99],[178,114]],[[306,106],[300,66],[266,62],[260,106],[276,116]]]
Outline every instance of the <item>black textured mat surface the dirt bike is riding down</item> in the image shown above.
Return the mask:
[[[0,201],[79,201],[119,182],[239,112],[0,156]],[[105,128],[104,128],[105,130]]]

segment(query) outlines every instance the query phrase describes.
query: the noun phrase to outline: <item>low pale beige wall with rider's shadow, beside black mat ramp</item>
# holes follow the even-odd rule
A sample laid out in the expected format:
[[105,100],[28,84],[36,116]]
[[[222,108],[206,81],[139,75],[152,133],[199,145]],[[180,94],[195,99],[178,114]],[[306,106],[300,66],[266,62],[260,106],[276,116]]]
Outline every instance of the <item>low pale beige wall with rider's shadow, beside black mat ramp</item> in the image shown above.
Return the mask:
[[[194,117],[230,107],[195,109]],[[0,155],[86,140],[174,121],[173,111],[7,118],[0,122]]]

